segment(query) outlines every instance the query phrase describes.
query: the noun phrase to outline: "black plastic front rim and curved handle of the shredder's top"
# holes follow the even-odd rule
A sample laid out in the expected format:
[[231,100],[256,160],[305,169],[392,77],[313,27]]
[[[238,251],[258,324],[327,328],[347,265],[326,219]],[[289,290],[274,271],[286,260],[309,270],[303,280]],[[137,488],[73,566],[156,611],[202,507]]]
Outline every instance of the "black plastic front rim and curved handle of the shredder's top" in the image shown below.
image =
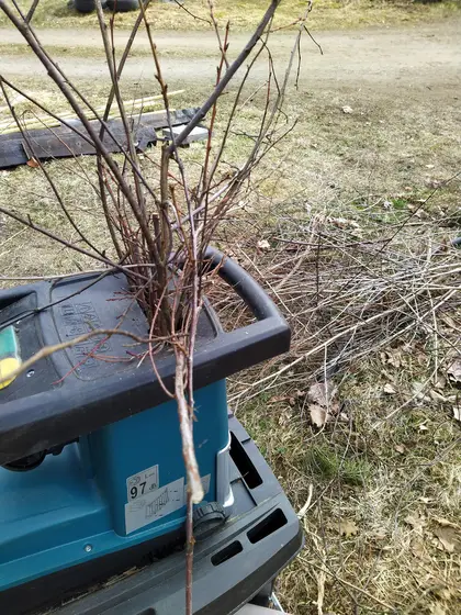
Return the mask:
[[[226,333],[215,320],[217,335],[204,339],[195,348],[195,389],[285,353],[291,336],[286,321],[272,300],[239,265],[215,248],[206,250],[205,259],[207,267],[217,269],[220,277],[241,297],[257,321]],[[47,286],[26,290],[49,293]],[[1,301],[3,294],[0,294]],[[50,317],[47,312],[41,316]],[[169,389],[175,385],[172,354],[167,353],[157,361],[157,369],[162,384],[146,365],[91,382],[64,379],[56,388],[11,401],[4,399],[0,404],[0,463],[59,446],[168,401],[164,385]]]

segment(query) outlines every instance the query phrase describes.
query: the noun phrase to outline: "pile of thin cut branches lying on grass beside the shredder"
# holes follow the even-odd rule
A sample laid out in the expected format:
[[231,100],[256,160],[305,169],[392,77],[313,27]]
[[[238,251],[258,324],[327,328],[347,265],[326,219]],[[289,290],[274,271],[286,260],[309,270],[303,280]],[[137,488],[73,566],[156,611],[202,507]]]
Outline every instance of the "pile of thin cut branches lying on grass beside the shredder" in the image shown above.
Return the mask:
[[[456,351],[440,320],[460,313],[461,254],[447,221],[425,214],[432,198],[411,205],[396,224],[383,223],[392,217],[380,212],[383,200],[372,211],[349,209],[341,217],[306,215],[301,205],[282,214],[277,230],[261,230],[265,239],[240,237],[229,245],[281,305],[293,332],[290,355],[252,373],[251,382],[239,381],[234,402],[282,385],[305,389],[306,373],[327,380],[352,361],[393,345],[409,348],[415,339],[430,340],[436,354],[442,345]],[[218,292],[215,299],[222,305]],[[226,304],[226,314],[229,309],[233,320],[243,317],[238,302]]]

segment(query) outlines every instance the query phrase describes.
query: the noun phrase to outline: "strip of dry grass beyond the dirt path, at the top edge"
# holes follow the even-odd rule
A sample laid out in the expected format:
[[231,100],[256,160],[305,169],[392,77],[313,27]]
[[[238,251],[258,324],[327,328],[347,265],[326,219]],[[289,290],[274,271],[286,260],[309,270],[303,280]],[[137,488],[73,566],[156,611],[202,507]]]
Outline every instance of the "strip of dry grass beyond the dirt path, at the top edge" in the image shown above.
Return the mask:
[[[27,2],[20,2],[29,7]],[[238,1],[223,0],[215,3],[218,20],[229,19],[234,30],[251,30],[266,9],[265,0]],[[157,30],[203,30],[210,26],[203,19],[209,18],[206,2],[188,0],[185,8],[200,19],[193,19],[179,5],[173,3],[153,2],[149,16]],[[281,3],[276,25],[282,26],[299,19],[305,10],[305,2],[291,0]],[[398,25],[446,19],[459,10],[457,1],[424,4],[411,0],[317,0],[310,18],[310,25],[316,30],[363,27],[370,25]],[[121,26],[130,27],[134,22],[133,13],[117,16]],[[64,0],[41,0],[34,23],[46,27],[95,27],[94,13],[80,14],[67,7]],[[0,26],[5,25],[0,15]]]

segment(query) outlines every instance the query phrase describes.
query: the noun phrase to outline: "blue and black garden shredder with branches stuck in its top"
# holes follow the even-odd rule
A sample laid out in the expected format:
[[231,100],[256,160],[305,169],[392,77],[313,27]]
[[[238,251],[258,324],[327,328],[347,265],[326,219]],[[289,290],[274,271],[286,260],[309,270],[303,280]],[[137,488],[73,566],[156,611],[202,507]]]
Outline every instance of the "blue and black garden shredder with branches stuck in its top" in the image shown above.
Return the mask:
[[[226,377],[288,350],[290,328],[239,265],[212,248],[206,259],[254,314],[250,324],[226,333],[205,301],[194,354],[194,444],[205,497],[193,515],[193,610],[224,615],[263,602],[303,538],[226,401]],[[45,346],[119,326],[148,333],[123,273],[3,290],[0,372]],[[123,335],[95,335],[2,384],[0,613],[184,612],[179,420],[140,354]],[[172,353],[155,360],[171,388]]]

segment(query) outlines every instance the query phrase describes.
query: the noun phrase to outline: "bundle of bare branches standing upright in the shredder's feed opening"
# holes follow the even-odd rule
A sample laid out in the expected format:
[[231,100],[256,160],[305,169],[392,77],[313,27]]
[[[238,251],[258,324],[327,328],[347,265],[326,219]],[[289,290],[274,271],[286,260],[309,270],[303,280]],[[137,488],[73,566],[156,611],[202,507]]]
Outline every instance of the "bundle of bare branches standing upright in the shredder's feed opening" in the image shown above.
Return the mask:
[[[216,33],[217,68],[213,91],[200,107],[191,121],[180,134],[175,136],[171,124],[170,103],[167,78],[162,74],[161,63],[155,44],[155,34],[147,16],[149,0],[139,3],[139,14],[128,37],[128,42],[119,56],[115,48],[116,16],[109,20],[103,13],[100,0],[97,0],[97,12],[101,32],[101,44],[104,49],[111,88],[105,109],[101,112],[63,71],[59,65],[41,44],[40,35],[31,24],[33,10],[23,13],[15,0],[0,0],[0,10],[9,18],[24,37],[29,47],[45,67],[49,79],[59,89],[63,100],[70,107],[78,122],[69,120],[68,114],[59,116],[47,108],[40,97],[33,98],[18,85],[0,75],[0,88],[11,115],[22,132],[30,159],[44,174],[53,194],[74,228],[76,242],[69,242],[55,233],[53,228],[38,225],[31,216],[24,216],[14,209],[0,208],[0,212],[14,221],[45,235],[64,245],[66,249],[76,250],[93,259],[110,271],[123,272],[130,281],[133,298],[146,314],[150,331],[148,337],[149,357],[153,369],[155,354],[169,347],[176,356],[176,384],[173,391],[166,391],[178,404],[180,428],[183,443],[183,456],[188,473],[188,613],[191,612],[191,554],[192,554],[192,504],[200,502],[203,490],[193,450],[193,355],[199,313],[203,302],[206,284],[205,251],[213,241],[218,224],[248,190],[249,178],[266,154],[274,147],[280,138],[292,126],[283,115],[282,105],[289,82],[293,60],[303,21],[299,23],[299,33],[293,44],[286,71],[283,79],[277,79],[273,59],[269,52],[269,36],[274,12],[280,0],[271,0],[261,21],[247,45],[231,63],[227,57],[229,43],[229,24],[220,30],[215,20],[213,4],[210,0],[210,23]],[[36,8],[37,2],[34,2]],[[307,7],[306,14],[310,10]],[[153,71],[159,87],[168,124],[169,139],[164,139],[158,160],[140,158],[136,148],[134,125],[138,118],[133,115],[122,97],[122,75],[139,29],[147,33],[153,62]],[[267,58],[268,77],[262,83],[266,101],[258,134],[254,136],[252,146],[247,159],[233,166],[233,171],[220,172],[223,154],[232,127],[237,120],[241,105],[241,97],[255,63]],[[225,93],[237,70],[248,63],[238,86],[233,90],[234,102],[228,115],[224,119],[225,128],[216,142],[214,126],[218,114],[220,97]],[[261,89],[261,86],[258,90]],[[53,119],[76,133],[81,139],[91,144],[97,153],[94,174],[86,170],[86,177],[97,195],[97,202],[103,212],[112,245],[95,245],[76,222],[56,182],[49,167],[44,164],[35,152],[34,139],[31,138],[27,124],[16,113],[14,97],[20,94],[34,105],[43,118]],[[124,127],[123,142],[117,139],[108,122],[113,105]],[[200,122],[209,116],[209,137],[200,164],[199,179],[196,172],[191,174],[181,157],[181,146]],[[90,121],[90,118],[92,121]],[[95,119],[95,124],[94,120]],[[53,127],[49,127],[53,131]],[[109,142],[116,144],[121,154],[114,155]],[[77,160],[78,161],[78,160]],[[156,172],[151,177],[151,165]],[[194,167],[194,171],[195,171]],[[195,179],[190,179],[195,177]],[[77,197],[77,195],[76,195]],[[103,270],[104,270],[103,269]],[[122,333],[121,323],[120,333]],[[100,332],[94,332],[98,335]],[[105,332],[108,336],[113,332]],[[54,348],[47,351],[54,351]],[[43,355],[43,353],[42,353]],[[32,359],[33,360],[33,359]],[[30,361],[27,361],[29,365]],[[24,366],[22,367],[24,369]],[[158,376],[158,374],[157,374]]]

